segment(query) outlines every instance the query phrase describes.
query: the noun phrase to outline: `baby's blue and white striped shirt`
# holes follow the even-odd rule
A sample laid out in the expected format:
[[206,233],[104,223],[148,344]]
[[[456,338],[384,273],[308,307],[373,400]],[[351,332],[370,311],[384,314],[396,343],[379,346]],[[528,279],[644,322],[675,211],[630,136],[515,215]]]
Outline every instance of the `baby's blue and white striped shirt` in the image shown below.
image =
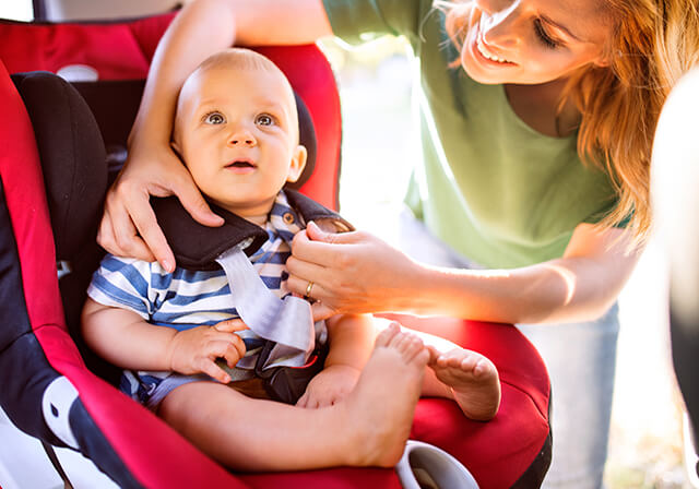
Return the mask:
[[[250,257],[262,282],[280,298],[289,294],[286,259],[291,255],[294,235],[304,227],[303,217],[288,205],[284,192],[280,192],[265,226],[269,239]],[[157,262],[107,254],[93,275],[87,295],[102,305],[133,311],[153,325],[178,331],[239,318],[223,269],[176,267],[168,273]],[[324,327],[316,326],[316,341],[323,343]],[[250,330],[236,334],[244,339],[247,351],[229,373],[234,380],[244,380],[252,377],[264,341]],[[170,373],[125,371],[121,389],[145,403],[155,386]]]

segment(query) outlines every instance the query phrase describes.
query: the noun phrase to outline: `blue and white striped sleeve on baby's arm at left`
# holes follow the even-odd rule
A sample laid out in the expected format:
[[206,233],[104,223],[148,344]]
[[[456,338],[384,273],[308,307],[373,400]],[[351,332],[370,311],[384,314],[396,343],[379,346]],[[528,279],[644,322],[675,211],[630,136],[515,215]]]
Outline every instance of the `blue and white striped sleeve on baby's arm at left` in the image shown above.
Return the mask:
[[149,262],[107,254],[92,276],[87,295],[95,302],[128,309],[149,320],[155,309],[151,267]]

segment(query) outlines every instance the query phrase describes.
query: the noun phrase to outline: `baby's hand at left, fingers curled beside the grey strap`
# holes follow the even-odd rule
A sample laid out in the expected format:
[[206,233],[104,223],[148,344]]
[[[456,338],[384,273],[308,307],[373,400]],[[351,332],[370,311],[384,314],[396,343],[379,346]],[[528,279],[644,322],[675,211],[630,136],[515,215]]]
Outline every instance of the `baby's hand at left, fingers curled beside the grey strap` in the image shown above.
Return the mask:
[[216,365],[216,358],[234,368],[246,351],[242,338],[234,332],[247,329],[241,320],[233,319],[178,332],[168,349],[170,369],[185,374],[206,373],[220,382],[230,382],[230,375]]

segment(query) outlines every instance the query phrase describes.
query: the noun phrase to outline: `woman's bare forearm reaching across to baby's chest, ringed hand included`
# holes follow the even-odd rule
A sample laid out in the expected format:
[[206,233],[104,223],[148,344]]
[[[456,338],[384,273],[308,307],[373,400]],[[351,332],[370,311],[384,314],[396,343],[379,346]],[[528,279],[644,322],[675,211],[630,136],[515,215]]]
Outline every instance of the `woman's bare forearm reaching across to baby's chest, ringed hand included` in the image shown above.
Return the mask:
[[313,282],[318,317],[408,312],[505,323],[583,321],[616,300],[638,260],[627,231],[577,227],[562,258],[513,270],[417,263],[366,232],[331,235],[310,225],[294,240],[288,286]]

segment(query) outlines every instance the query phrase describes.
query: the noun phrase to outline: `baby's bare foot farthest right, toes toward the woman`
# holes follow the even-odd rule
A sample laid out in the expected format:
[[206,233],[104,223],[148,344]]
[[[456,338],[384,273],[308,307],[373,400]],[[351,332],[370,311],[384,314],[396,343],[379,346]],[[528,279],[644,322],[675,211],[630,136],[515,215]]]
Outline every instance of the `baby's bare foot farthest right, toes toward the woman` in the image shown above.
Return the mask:
[[487,421],[500,406],[500,379],[490,360],[481,354],[454,348],[445,354],[433,350],[429,366],[447,384],[461,410],[471,419]]

